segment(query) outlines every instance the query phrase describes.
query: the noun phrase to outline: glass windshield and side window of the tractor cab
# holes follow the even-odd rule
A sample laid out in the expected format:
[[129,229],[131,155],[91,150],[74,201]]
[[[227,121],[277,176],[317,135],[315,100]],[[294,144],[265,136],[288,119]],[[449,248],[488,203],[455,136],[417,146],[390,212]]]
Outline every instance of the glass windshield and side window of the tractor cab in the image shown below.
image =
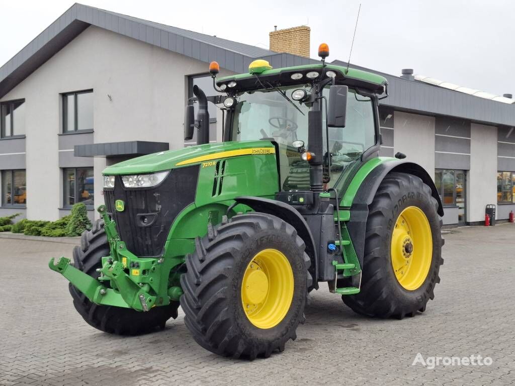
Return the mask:
[[[277,90],[261,90],[239,95],[231,127],[232,141],[268,139],[279,144],[283,190],[310,187],[309,166],[300,159],[298,149],[293,147],[294,141],[301,140],[307,150],[310,148],[307,135],[307,115],[310,108],[291,98],[291,93],[297,89],[312,92],[311,85],[282,88],[281,91],[286,93],[293,104]],[[329,87],[323,89],[322,95],[329,98]],[[322,104],[322,131],[324,149],[327,149],[325,103]],[[372,101],[369,97],[358,95],[349,89],[345,128],[329,128],[332,177],[328,186],[334,186],[344,170],[358,161],[363,152],[374,144]]]

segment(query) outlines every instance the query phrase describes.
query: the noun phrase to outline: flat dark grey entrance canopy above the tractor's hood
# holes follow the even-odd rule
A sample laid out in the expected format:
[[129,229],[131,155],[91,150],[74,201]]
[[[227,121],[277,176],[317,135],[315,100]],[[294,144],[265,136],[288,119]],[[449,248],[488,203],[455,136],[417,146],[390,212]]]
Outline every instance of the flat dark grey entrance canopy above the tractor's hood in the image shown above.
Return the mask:
[[103,144],[75,145],[76,157],[113,157],[119,155],[144,155],[169,150],[167,142],[128,141]]

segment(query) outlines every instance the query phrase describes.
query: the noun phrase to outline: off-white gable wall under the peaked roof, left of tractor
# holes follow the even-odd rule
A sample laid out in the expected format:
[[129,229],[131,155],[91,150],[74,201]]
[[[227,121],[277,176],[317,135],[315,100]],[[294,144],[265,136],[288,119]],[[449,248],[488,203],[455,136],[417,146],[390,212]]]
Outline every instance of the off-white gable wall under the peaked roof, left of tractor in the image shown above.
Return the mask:
[[[186,75],[208,64],[114,32],[89,27],[2,100],[25,98],[27,217],[56,220],[62,206],[58,136],[60,93],[94,90],[94,142],[183,146]],[[220,76],[228,75],[222,72]],[[111,97],[111,98],[109,98]],[[101,168],[95,160],[95,205]]]

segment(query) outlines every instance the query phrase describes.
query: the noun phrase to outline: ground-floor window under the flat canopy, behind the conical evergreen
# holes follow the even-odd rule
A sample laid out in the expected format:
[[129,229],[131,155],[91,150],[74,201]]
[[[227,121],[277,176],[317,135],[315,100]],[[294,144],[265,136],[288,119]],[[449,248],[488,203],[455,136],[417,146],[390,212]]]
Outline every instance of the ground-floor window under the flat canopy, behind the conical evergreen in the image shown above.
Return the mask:
[[63,169],[63,186],[65,208],[82,202],[88,209],[94,207],[94,178],[93,168]]

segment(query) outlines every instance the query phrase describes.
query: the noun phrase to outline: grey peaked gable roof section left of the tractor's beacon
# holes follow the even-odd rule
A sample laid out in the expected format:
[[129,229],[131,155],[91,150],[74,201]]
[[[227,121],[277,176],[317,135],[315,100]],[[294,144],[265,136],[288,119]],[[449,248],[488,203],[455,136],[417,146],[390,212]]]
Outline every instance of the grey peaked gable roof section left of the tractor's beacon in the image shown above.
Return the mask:
[[76,3],[0,67],[0,98],[91,25],[203,62],[216,60],[236,73],[246,72],[256,58],[266,59],[274,67],[311,61]]

